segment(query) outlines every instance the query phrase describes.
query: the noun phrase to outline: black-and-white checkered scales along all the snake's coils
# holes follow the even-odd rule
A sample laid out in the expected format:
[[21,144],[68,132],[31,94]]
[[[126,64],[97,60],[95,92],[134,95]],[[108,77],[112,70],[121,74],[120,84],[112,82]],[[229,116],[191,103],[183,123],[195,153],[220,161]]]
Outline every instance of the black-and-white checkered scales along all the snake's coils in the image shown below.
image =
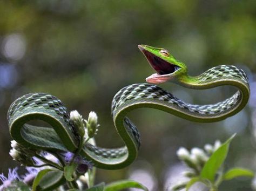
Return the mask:
[[[242,83],[248,87],[248,78],[244,71],[238,67],[231,65],[221,65],[213,67],[212,69],[204,72],[200,76],[196,77],[196,83],[202,86],[209,85],[211,83],[217,83],[218,81],[232,79]],[[112,116],[113,120],[119,112],[130,111],[133,105],[139,105],[144,107],[143,104],[152,105],[157,108],[158,106],[166,107],[170,110],[176,110],[180,113],[186,113],[187,115],[194,116],[196,118],[211,118],[218,117],[221,114],[230,112],[234,107],[238,106],[241,102],[242,94],[240,91],[235,93],[231,98],[221,101],[217,104],[210,105],[193,105],[187,104],[184,101],[174,97],[171,93],[167,92],[161,87],[151,84],[132,84],[122,88],[113,98],[112,101]],[[30,108],[43,107],[46,110],[52,110],[56,113],[57,117],[62,118],[68,128],[73,134],[76,134],[70,121],[69,113],[63,106],[61,101],[56,97],[45,93],[32,93],[23,95],[18,98],[8,111],[8,122],[15,120],[15,117],[22,113],[23,110]],[[137,108],[137,107],[136,107]],[[174,113],[176,115],[178,112]],[[137,148],[140,147],[140,134],[134,124],[125,117],[123,125],[126,132],[129,133],[130,138],[136,143]],[[106,149],[86,144],[86,150],[98,156],[98,158],[118,159],[127,154],[127,148]],[[96,157],[97,158],[97,157]]]

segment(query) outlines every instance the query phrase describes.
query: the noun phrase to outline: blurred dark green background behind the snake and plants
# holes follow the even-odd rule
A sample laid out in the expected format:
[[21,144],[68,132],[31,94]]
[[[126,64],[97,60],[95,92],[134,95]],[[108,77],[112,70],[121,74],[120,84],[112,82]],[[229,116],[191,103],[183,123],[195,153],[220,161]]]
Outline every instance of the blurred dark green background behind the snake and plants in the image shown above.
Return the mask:
[[[97,145],[122,146],[110,105],[120,88],[144,83],[154,71],[138,44],[165,47],[191,75],[232,64],[251,82],[250,103],[239,114],[199,124],[148,108],[129,114],[142,136],[137,160],[120,170],[97,171],[97,182],[131,178],[150,190],[181,179],[180,146],[203,147],[233,140],[227,167],[256,169],[256,1],[123,0],[0,1],[0,172],[16,166],[9,156],[8,107],[20,95],[56,95],[84,117],[96,111],[101,124]],[[232,87],[188,90],[161,85],[185,101],[214,103]],[[203,190],[203,189],[202,189]],[[251,180],[228,181],[220,190],[252,190]]]

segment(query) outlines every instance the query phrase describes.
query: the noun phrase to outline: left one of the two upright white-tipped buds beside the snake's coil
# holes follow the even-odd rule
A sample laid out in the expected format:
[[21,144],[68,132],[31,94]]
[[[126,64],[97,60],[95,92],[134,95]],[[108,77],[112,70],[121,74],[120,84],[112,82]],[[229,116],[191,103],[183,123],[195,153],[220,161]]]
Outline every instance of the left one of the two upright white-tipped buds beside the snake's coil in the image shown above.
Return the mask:
[[73,122],[73,125],[75,127],[75,129],[77,130],[77,132],[79,133],[79,135],[81,137],[84,137],[85,134],[85,126],[84,126],[84,119],[82,117],[82,115],[80,115],[78,113],[78,111],[74,110],[70,112],[70,120]]

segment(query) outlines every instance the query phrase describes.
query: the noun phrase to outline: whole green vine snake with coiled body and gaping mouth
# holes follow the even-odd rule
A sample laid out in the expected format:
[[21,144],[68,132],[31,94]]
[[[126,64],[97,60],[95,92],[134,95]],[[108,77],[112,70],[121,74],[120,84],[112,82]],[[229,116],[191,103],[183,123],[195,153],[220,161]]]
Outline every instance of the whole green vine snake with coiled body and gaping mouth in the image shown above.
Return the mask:
[[[214,122],[238,113],[250,97],[246,73],[232,65],[220,65],[196,77],[188,76],[184,63],[175,59],[167,50],[139,45],[149,64],[157,72],[146,78],[151,84],[132,84],[114,95],[112,117],[125,147],[100,148],[86,144],[80,155],[91,160],[96,167],[119,169],[132,163],[140,147],[140,135],[126,114],[136,108],[150,107],[165,111],[186,120]],[[212,105],[193,105],[174,97],[154,85],[171,81],[194,89],[232,85],[238,91],[230,98]],[[31,120],[43,120],[52,128],[29,125]],[[62,102],[50,94],[30,93],[19,97],[8,111],[10,134],[19,144],[45,151],[75,152],[78,146],[69,112]]]

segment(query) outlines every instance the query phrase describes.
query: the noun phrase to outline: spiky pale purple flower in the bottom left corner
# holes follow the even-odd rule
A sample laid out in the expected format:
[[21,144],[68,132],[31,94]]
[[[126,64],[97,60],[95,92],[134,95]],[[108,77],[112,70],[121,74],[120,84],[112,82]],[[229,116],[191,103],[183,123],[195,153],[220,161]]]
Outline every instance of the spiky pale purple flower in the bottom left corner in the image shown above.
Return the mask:
[[0,186],[0,191],[4,190],[4,188],[7,188],[11,185],[13,181],[19,181],[21,178],[19,177],[17,173],[17,167],[14,169],[9,168],[8,178],[4,176],[4,174],[0,174],[0,180],[2,181],[3,185]]

